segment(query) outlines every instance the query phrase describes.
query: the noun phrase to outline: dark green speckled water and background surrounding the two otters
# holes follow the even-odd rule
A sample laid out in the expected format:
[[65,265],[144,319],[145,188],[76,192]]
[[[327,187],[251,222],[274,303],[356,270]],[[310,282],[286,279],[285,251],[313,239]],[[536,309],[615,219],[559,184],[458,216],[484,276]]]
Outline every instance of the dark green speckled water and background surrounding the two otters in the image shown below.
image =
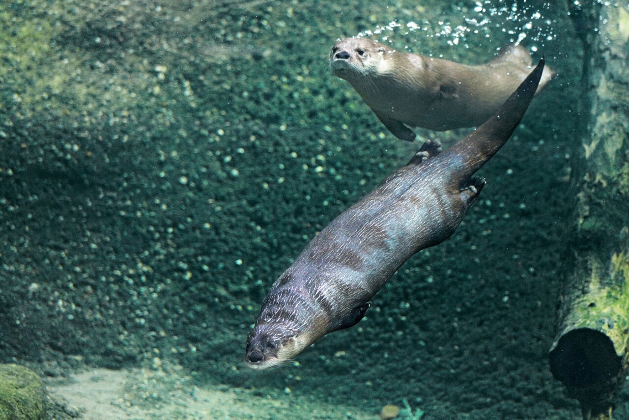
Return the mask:
[[[247,370],[272,282],[418,148],[331,75],[331,46],[359,33],[467,64],[521,40],[557,78],[482,169],[457,233],[364,321]],[[199,387],[277,402],[229,419],[375,419],[403,399],[423,420],[578,418],[547,351],[581,55],[560,2],[4,2],[0,361],[57,377],[159,355]],[[467,130],[416,132],[448,146]]]

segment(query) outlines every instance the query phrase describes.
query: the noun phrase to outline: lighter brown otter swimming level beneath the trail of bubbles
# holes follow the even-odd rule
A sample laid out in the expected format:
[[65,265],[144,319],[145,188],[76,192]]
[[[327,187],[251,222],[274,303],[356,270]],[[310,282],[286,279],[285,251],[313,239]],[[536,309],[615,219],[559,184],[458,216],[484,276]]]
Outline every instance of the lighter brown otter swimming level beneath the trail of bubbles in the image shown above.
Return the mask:
[[[508,45],[491,62],[464,65],[345,38],[332,48],[330,65],[394,136],[413,141],[408,126],[443,131],[484,123],[531,71],[531,57]],[[537,90],[552,77],[547,67]]]

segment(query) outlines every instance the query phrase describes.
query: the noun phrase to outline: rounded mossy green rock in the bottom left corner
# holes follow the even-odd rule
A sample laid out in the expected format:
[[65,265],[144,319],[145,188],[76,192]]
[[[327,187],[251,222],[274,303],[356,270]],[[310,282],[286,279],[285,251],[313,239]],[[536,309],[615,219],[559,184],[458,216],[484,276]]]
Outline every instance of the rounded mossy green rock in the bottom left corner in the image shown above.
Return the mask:
[[44,419],[45,396],[35,372],[19,365],[0,365],[0,420]]

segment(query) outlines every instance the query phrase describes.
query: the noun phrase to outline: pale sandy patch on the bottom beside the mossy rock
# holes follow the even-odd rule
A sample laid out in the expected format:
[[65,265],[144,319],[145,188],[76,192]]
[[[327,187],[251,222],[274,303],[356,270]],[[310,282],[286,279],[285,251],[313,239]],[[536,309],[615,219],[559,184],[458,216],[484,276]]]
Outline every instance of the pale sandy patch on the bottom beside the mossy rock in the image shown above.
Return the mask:
[[181,369],[109,370],[97,368],[47,383],[50,395],[84,419],[357,419],[374,413],[303,401],[272,399],[225,385],[196,387]]

